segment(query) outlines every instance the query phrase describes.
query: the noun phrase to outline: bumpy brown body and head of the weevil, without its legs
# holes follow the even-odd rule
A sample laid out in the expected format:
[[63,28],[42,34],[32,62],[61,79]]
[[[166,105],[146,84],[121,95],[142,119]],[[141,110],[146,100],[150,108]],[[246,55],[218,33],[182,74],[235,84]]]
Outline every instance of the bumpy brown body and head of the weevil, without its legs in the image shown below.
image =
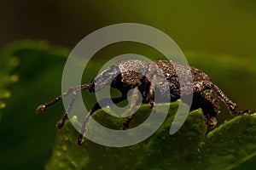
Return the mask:
[[[154,100],[154,92],[150,93],[149,90],[150,86],[154,85],[163,98],[168,99],[169,96],[166,95],[171,95],[171,101],[175,101],[180,98],[180,83],[191,83],[188,75],[192,76],[194,83],[211,81],[206,73],[189,65],[169,60],[156,60],[148,64],[141,59],[124,59],[98,75],[92,81],[94,85],[90,91],[95,92],[111,85],[126,95],[131,88],[137,87],[143,94],[143,102],[148,103],[149,100]],[[112,80],[113,82],[110,82]],[[217,116],[218,101],[218,95],[213,89],[204,89],[194,93],[191,110],[202,108],[207,117]]]

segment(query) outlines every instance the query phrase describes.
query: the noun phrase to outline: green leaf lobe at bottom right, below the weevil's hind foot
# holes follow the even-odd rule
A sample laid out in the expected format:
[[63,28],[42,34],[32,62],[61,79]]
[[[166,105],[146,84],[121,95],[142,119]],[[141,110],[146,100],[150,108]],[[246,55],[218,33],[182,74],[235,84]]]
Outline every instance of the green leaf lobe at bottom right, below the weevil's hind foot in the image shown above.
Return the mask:
[[201,154],[207,169],[232,169],[256,156],[256,115],[236,116],[207,135]]

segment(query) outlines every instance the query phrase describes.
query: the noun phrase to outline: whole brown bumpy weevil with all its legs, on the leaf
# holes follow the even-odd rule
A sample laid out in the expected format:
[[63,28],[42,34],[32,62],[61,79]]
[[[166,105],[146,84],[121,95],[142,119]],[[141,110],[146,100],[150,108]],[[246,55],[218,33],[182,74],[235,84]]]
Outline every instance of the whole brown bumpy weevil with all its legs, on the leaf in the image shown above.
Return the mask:
[[[183,79],[178,79],[177,73],[179,76],[183,77]],[[184,81],[184,83],[188,82],[189,80],[186,79],[187,74],[191,74],[193,78],[191,88],[185,89],[186,87],[183,87],[184,89],[181,89],[179,81]],[[167,85],[165,84],[166,82]],[[102,71],[102,73],[97,75],[90,83],[67,89],[65,93],[49,103],[39,105],[37,111],[42,112],[49,106],[55,105],[55,103],[65,96],[73,94],[73,99],[68,105],[67,111],[61,117],[60,121],[56,123],[56,127],[61,128],[67,120],[67,116],[73,107],[77,95],[81,91],[89,90],[90,93],[96,93],[108,85],[112,88],[117,88],[121,92],[121,96],[113,99],[102,99],[96,102],[88,116],[84,117],[78,144],[82,144],[86,123],[89,121],[90,116],[104,106],[118,104],[127,99],[127,93],[131,89],[134,89],[131,99],[131,112],[130,116],[128,116],[123,123],[124,130],[129,128],[129,123],[131,122],[132,116],[135,114],[135,99],[138,93],[142,94],[143,103],[149,104],[151,108],[154,108],[155,93],[159,93],[163,101],[168,97],[166,95],[170,95],[171,102],[180,99],[181,95],[193,93],[193,101],[190,110],[201,108],[205,116],[207,127],[209,128],[215,127],[217,124],[215,117],[219,112],[219,99],[224,102],[232,115],[241,115],[249,112],[237,112],[236,104],[233,103],[220,88],[212,83],[210,77],[203,71],[189,65],[178,64],[172,60],[155,60],[148,63],[143,59],[119,60],[114,65],[109,66],[105,71]],[[181,94],[182,90],[185,93]],[[100,103],[101,105],[99,105]]]

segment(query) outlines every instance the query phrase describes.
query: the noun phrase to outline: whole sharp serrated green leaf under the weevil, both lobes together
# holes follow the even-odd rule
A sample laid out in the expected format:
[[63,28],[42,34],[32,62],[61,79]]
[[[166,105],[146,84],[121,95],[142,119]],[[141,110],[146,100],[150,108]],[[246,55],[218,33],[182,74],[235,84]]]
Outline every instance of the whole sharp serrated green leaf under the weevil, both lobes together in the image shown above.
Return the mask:
[[[170,135],[177,105],[178,102],[170,105],[166,121],[154,135],[123,148],[102,146],[88,139],[80,146],[76,144],[79,133],[67,122],[57,133],[53,156],[46,169],[230,169],[255,156],[256,115],[237,116],[206,136],[202,111],[192,111],[183,127]],[[132,120],[141,122],[148,112],[148,105],[142,105]],[[102,110],[96,111],[93,117],[112,128],[119,128],[124,122]]]

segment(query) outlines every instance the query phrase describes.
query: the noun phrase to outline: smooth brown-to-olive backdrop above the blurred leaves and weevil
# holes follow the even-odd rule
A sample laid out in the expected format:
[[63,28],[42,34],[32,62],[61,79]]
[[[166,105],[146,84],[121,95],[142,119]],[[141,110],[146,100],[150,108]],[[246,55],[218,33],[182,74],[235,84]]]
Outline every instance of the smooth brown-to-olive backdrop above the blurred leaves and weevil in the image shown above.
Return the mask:
[[73,48],[90,32],[121,22],[165,31],[183,50],[253,57],[256,3],[228,1],[0,1],[0,48],[19,38]]

